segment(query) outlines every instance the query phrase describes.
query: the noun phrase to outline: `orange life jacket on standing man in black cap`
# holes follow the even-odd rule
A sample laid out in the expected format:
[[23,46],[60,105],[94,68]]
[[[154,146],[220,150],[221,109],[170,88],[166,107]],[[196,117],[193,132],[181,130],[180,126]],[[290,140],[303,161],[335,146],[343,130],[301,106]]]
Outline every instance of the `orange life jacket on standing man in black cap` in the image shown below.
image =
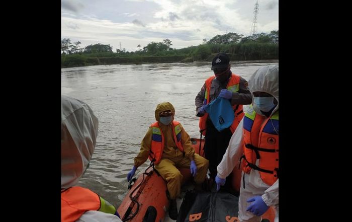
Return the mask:
[[[209,104],[210,102],[210,88],[214,78],[215,76],[212,76],[205,81],[206,90],[204,95],[204,105]],[[240,77],[232,73],[231,79],[227,83],[226,89],[231,91],[232,93],[238,92],[239,81],[240,81]],[[232,125],[230,126],[230,130],[233,133],[236,130],[239,122],[242,120],[244,113],[243,113],[242,105],[235,104],[232,106],[232,108],[233,108],[233,112],[235,113],[235,118],[233,119]],[[203,135],[206,134],[208,116],[209,114],[205,113],[204,116],[202,116],[199,119],[199,128]]]

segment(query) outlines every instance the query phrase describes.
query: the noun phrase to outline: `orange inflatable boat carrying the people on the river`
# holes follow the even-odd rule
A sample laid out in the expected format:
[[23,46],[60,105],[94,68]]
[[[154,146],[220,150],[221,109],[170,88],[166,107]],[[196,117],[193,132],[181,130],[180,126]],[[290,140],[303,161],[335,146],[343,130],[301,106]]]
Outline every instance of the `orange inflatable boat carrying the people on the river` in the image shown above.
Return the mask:
[[[197,154],[204,157],[204,139],[191,138],[192,146]],[[242,162],[243,163],[243,162]],[[183,182],[192,178],[189,169],[179,169]],[[239,192],[242,168],[236,166],[232,171],[232,187]],[[122,221],[130,222],[168,222],[168,198],[166,183],[150,165],[138,178],[133,178],[128,185],[128,193],[117,209]],[[178,208],[179,209],[179,208]],[[165,216],[167,217],[165,219]],[[262,221],[274,222],[275,209],[270,207],[262,215]],[[269,221],[268,221],[269,220]]]

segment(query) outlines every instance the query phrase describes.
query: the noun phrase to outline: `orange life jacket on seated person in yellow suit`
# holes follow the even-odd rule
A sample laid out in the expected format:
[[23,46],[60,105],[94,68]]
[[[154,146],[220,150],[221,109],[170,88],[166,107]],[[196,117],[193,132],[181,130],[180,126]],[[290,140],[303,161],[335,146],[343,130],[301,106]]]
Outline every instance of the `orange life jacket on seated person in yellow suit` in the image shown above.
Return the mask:
[[[159,127],[158,122],[154,122],[150,125],[152,127],[151,147],[149,160],[154,161],[154,164],[158,164],[161,160],[162,151],[164,150],[164,135]],[[178,149],[184,153],[184,148],[181,143],[181,127],[180,122],[172,121],[172,134],[173,141],[175,141]]]

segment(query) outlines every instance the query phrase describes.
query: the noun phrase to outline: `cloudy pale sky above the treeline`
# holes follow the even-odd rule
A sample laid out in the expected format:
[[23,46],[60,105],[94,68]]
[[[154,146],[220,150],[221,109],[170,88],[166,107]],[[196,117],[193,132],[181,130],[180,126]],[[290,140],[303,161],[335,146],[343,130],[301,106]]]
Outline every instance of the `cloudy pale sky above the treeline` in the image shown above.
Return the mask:
[[[248,36],[256,0],[61,0],[61,39],[80,48],[110,44],[136,51],[150,42],[172,48],[234,32]],[[279,0],[258,0],[257,33],[279,30]]]

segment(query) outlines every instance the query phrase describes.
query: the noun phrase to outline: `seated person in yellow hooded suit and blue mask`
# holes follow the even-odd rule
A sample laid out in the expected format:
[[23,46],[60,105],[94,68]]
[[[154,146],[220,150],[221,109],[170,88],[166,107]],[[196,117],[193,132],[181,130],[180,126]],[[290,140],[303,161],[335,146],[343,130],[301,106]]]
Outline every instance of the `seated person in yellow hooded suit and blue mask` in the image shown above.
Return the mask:
[[169,102],[160,103],[155,109],[156,122],[150,125],[142,142],[134,166],[127,175],[130,181],[137,168],[147,158],[167,183],[170,207],[169,217],[177,219],[176,198],[181,193],[182,174],[178,168],[190,168],[194,181],[201,184],[206,179],[209,162],[195,154],[191,138],[180,122],[174,120],[175,109]]

